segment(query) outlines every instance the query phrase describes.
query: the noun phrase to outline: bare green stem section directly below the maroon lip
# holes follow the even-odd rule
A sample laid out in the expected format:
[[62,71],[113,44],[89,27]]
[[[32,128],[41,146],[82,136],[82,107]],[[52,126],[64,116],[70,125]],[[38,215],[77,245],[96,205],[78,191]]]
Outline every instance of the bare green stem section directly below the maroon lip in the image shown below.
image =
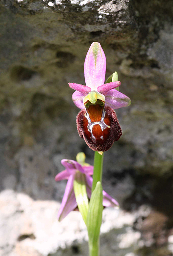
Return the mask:
[[94,191],[98,181],[102,183],[103,155],[104,153],[102,153],[101,155],[97,151],[95,151],[92,192]]

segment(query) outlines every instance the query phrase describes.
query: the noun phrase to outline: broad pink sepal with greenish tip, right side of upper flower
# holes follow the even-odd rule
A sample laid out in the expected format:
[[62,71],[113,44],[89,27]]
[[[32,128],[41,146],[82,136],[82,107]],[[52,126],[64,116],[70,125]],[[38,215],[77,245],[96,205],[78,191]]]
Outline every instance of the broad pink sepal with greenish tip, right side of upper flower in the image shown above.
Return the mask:
[[130,104],[130,98],[115,89],[110,90],[105,95],[105,105],[113,109],[127,107]]

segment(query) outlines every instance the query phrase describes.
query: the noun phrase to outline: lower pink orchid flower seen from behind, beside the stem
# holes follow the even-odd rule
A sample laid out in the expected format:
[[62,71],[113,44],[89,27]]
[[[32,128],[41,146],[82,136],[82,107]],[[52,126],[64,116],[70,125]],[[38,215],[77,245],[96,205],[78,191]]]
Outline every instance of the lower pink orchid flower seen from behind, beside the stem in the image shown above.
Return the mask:
[[[58,211],[58,220],[61,221],[65,218],[65,216],[75,210],[77,208],[77,202],[75,198],[73,182],[75,180],[75,174],[77,172],[81,172],[85,177],[85,185],[86,185],[86,193],[87,197],[91,198],[91,189],[93,179],[91,175],[93,175],[93,166],[89,164],[84,164],[83,166],[74,160],[63,159],[61,160],[61,164],[64,165],[65,170],[58,173],[55,177],[56,181],[59,180],[68,180],[67,186],[65,188],[64,197],[62,200],[62,204]],[[118,202],[111,196],[109,196],[103,190],[103,206],[104,207],[117,207]]]

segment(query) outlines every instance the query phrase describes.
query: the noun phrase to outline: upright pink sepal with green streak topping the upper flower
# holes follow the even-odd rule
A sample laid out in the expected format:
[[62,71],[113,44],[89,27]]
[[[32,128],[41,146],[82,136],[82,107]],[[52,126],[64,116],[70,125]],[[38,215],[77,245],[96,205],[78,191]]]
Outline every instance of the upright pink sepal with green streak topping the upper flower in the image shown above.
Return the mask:
[[100,43],[91,44],[85,59],[84,75],[85,83],[91,90],[104,84],[106,72],[106,57]]

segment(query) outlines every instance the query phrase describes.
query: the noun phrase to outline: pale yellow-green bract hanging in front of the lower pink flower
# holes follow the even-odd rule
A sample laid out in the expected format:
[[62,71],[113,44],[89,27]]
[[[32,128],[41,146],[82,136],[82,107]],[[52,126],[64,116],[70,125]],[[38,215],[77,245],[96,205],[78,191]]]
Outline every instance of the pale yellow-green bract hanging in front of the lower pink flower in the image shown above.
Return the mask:
[[86,193],[86,177],[85,174],[81,172],[76,172],[75,179],[73,183],[74,193],[76,197],[76,202],[78,204],[79,212],[86,224],[86,218],[88,213],[88,197]]

